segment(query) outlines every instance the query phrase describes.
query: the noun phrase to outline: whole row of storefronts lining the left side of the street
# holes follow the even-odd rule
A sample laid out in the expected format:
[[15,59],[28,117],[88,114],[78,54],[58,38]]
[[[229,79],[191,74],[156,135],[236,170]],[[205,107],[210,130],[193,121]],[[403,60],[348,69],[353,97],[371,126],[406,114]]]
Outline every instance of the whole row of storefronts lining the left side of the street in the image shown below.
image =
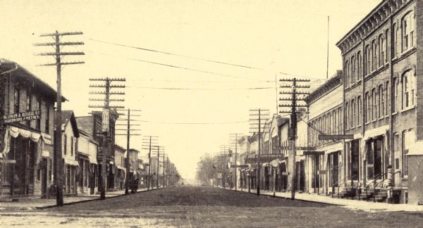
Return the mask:
[[[56,91],[18,63],[0,59],[0,86],[0,197],[54,196],[56,121],[62,126],[63,194],[99,192],[103,151],[106,191],[125,189],[126,150],[115,143],[118,115],[114,110],[103,145],[102,135],[96,133],[102,127],[102,113],[75,117],[72,110],[64,110],[61,120],[56,120]],[[138,165],[143,161],[136,156],[130,178],[145,179]]]

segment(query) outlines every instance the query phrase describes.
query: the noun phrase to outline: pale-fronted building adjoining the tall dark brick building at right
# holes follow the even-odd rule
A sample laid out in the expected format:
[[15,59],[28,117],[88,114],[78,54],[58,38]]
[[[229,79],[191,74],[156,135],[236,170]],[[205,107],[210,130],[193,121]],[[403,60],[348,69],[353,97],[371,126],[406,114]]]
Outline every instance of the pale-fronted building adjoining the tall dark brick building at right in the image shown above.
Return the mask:
[[[319,140],[319,134],[343,134],[343,72],[336,75],[312,91],[306,97],[308,114],[308,146],[314,146],[314,153],[306,155],[307,191],[315,194],[329,194],[332,186],[338,186],[343,179],[342,140]],[[350,158],[350,157],[348,157]],[[357,166],[348,170],[357,170]],[[351,172],[349,172],[351,173]],[[350,174],[351,175],[351,174]],[[356,179],[353,171],[353,179]]]

